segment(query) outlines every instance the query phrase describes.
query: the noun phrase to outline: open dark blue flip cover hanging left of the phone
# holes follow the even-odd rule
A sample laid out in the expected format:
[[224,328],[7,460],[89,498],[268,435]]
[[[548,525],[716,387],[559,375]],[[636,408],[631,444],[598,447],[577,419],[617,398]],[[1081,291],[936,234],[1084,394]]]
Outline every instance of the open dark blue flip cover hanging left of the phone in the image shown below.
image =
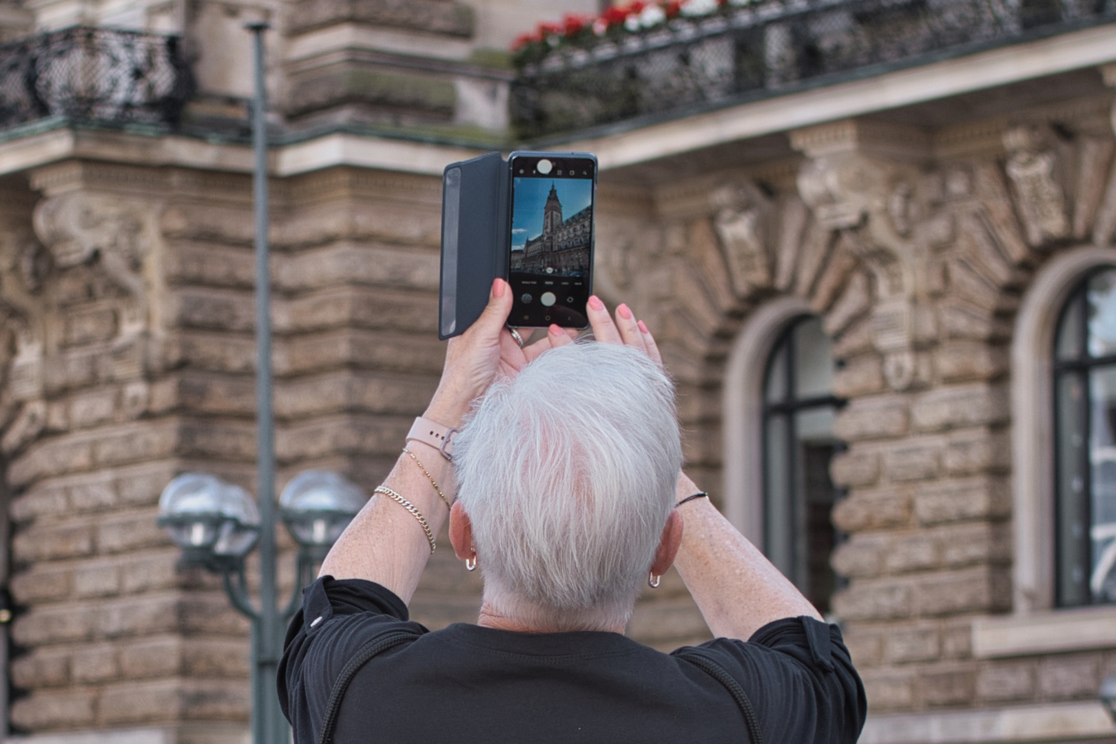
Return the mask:
[[488,305],[492,280],[508,276],[509,177],[500,153],[451,163],[442,174],[440,339],[472,326]]

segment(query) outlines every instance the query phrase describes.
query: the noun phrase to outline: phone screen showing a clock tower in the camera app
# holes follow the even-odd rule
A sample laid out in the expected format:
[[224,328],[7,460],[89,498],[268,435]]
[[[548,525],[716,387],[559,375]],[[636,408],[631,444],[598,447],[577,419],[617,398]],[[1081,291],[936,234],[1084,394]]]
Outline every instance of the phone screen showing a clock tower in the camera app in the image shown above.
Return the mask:
[[591,156],[512,154],[511,255],[513,305],[508,325],[589,325],[597,162]]

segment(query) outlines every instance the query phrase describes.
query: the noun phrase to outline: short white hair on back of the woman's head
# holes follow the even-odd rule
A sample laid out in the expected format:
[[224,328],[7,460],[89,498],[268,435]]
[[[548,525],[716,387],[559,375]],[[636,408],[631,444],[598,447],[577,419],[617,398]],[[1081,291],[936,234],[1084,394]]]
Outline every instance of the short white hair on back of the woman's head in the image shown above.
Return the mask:
[[551,349],[494,384],[454,446],[485,602],[556,630],[626,622],[682,467],[670,378],[632,347]]

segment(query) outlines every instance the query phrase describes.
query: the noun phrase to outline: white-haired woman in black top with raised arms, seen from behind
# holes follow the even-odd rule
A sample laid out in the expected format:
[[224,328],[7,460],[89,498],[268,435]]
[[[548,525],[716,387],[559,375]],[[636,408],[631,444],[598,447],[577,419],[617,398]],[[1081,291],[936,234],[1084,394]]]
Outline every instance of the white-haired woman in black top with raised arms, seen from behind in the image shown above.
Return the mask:
[[[646,326],[591,298],[595,342],[520,348],[510,308],[497,280],[305,592],[279,673],[296,744],[855,742],[840,632],[682,474]],[[431,632],[406,603],[446,518],[483,601]],[[716,638],[666,655],[623,632],[672,563]]]

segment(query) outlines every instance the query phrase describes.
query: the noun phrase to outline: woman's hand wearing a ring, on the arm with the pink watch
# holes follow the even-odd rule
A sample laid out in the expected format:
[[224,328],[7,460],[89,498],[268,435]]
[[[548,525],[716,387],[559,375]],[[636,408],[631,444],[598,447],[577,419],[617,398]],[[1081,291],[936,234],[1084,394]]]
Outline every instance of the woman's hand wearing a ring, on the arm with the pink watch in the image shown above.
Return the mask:
[[577,336],[576,330],[551,326],[546,337],[520,347],[506,327],[511,312],[510,290],[508,282],[496,279],[481,317],[464,334],[450,339],[442,379],[423,414],[426,418],[443,426],[460,426],[472,402],[484,395],[497,376],[514,377],[547,349]]

